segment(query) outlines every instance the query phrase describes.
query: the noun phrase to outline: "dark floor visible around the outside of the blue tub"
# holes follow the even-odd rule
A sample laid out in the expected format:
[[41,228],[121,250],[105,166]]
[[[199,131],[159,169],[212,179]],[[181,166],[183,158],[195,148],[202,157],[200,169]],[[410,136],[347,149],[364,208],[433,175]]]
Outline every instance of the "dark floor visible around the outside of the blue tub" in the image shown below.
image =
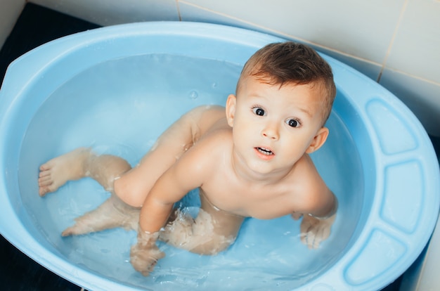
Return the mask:
[[[32,48],[67,34],[99,27],[90,22],[51,11],[34,4],[26,4],[13,31],[0,51],[0,81],[3,82],[6,67],[11,61]],[[0,101],[1,102],[1,101]],[[432,138],[437,155],[440,154],[440,138]],[[384,288],[399,290],[401,278]],[[32,259],[15,249],[0,235],[0,283],[1,290],[75,290],[81,288],[56,276]]]

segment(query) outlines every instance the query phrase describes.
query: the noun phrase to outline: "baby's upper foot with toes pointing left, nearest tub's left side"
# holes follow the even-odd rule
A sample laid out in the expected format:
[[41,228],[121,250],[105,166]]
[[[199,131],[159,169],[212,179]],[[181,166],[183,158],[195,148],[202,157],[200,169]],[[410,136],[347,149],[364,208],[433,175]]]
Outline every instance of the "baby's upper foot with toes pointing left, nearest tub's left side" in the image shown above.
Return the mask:
[[39,168],[39,195],[44,196],[56,191],[69,180],[77,180],[85,176],[84,162],[91,155],[89,148],[78,148],[70,153],[60,155]]

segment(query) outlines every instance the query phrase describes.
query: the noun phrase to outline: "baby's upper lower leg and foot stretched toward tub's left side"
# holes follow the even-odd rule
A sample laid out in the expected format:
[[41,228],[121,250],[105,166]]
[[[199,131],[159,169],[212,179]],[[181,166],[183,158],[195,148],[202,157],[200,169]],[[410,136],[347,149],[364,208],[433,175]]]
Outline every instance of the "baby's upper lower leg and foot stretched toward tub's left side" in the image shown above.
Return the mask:
[[78,148],[41,165],[39,195],[54,192],[67,181],[86,176],[98,181],[105,190],[112,191],[115,178],[129,169],[129,163],[120,157],[96,155],[89,148]]

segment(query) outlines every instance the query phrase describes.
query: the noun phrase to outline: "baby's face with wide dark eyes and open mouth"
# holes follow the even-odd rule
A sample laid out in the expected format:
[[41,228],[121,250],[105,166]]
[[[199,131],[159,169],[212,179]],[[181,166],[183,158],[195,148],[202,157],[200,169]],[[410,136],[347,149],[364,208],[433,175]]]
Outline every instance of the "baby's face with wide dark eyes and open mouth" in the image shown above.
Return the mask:
[[304,153],[313,152],[311,145],[323,130],[319,87],[244,79],[238,96],[230,96],[227,104],[235,155],[264,174],[290,169]]

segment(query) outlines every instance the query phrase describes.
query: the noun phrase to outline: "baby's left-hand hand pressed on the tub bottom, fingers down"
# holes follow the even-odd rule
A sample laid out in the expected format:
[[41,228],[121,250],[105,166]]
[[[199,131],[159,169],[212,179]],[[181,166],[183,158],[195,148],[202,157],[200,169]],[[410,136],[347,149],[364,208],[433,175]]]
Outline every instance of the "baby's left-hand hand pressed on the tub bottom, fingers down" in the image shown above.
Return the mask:
[[138,231],[138,242],[131,247],[130,262],[136,271],[148,276],[153,271],[157,261],[165,257],[156,245],[158,233]]

